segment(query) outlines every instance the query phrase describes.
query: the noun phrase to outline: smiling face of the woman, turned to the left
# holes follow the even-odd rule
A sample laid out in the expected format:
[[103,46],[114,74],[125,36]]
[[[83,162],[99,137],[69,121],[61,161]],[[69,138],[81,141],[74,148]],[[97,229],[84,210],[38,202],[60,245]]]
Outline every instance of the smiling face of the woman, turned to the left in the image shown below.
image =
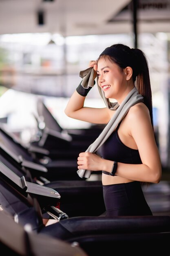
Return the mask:
[[125,72],[108,58],[100,58],[97,63],[98,85],[107,99],[121,97],[126,85]]

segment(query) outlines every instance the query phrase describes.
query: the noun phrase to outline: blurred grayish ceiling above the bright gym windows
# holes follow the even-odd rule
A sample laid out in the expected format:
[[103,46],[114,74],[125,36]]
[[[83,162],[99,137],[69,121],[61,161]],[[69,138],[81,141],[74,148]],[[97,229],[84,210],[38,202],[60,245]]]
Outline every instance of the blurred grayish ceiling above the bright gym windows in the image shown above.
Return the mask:
[[[131,0],[0,0],[0,34],[133,32]],[[170,32],[170,0],[137,0],[138,32]]]

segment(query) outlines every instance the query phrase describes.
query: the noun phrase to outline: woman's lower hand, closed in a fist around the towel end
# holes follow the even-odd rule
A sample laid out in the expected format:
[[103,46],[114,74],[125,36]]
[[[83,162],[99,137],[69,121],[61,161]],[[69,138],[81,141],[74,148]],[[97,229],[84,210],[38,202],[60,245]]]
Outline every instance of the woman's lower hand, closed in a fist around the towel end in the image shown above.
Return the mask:
[[101,171],[102,158],[94,153],[82,152],[77,158],[78,169]]

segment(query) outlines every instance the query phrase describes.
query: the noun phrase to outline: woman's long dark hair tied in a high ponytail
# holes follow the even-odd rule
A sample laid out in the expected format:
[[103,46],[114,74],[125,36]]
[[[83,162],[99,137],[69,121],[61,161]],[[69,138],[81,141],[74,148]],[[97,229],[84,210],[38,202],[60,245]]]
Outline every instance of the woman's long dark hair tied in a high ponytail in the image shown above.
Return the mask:
[[[114,48],[114,51],[113,51]],[[116,52],[117,54],[112,54],[111,52]],[[106,51],[106,52],[105,52]],[[110,52],[110,53],[109,53]],[[150,112],[151,124],[153,127],[153,114],[152,114],[152,92],[150,86],[150,76],[148,69],[148,61],[144,52],[140,49],[131,49],[127,45],[115,44],[104,50],[100,54],[100,58],[109,58],[111,61],[119,65],[121,69],[127,66],[132,67],[132,79],[135,86],[139,92],[144,97],[144,103],[148,107]],[[98,59],[98,60],[99,60]]]

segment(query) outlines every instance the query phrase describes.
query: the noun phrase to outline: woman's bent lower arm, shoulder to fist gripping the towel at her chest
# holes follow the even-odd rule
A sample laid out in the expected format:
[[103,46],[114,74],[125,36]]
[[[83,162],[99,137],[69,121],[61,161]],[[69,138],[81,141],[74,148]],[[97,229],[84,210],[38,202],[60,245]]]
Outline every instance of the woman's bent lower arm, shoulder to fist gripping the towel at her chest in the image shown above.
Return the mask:
[[[109,176],[110,184],[119,183],[120,177],[126,180],[152,183],[158,183],[161,179],[161,159],[155,142],[150,115],[148,108],[142,105],[138,104],[130,108],[126,116],[127,130],[137,144],[142,164],[118,163],[117,176]],[[79,169],[91,171],[111,172],[113,167],[113,161],[86,152],[79,154],[77,164]]]

